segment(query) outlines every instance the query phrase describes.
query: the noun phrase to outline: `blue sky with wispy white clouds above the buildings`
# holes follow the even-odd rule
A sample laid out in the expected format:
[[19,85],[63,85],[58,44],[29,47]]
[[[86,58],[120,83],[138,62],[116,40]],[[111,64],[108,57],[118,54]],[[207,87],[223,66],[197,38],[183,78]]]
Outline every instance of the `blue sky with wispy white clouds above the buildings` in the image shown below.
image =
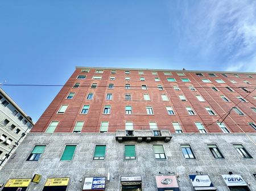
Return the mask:
[[[0,0],[0,83],[75,66],[256,71],[256,1]],[[38,120],[59,87],[1,86]]]

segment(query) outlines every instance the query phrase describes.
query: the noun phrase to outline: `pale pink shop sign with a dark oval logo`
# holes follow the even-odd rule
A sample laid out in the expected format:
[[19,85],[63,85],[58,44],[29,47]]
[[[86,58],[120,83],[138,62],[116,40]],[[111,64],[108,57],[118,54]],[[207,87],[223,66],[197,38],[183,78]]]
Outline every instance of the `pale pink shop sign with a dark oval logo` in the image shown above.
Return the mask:
[[179,191],[176,176],[156,176],[158,191]]

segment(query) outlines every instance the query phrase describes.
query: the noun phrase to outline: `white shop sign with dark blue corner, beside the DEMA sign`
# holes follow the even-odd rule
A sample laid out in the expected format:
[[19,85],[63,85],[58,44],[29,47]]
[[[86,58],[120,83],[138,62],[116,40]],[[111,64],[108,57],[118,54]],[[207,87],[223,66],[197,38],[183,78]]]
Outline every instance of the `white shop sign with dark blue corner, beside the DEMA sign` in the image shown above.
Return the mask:
[[189,175],[194,190],[216,190],[208,175]]

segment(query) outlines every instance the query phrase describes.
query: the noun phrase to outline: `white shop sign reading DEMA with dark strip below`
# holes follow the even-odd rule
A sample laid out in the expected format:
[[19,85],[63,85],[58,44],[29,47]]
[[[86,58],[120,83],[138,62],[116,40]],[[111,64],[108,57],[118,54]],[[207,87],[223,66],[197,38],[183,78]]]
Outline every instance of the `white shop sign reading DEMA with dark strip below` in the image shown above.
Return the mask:
[[230,191],[250,191],[241,175],[221,175]]

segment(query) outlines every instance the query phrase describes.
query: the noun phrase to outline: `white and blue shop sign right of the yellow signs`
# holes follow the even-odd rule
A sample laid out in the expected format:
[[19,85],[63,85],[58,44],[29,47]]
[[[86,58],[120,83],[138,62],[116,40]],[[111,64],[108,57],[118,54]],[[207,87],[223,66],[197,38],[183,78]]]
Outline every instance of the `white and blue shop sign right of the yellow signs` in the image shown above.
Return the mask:
[[106,177],[85,177],[82,190],[105,190]]

